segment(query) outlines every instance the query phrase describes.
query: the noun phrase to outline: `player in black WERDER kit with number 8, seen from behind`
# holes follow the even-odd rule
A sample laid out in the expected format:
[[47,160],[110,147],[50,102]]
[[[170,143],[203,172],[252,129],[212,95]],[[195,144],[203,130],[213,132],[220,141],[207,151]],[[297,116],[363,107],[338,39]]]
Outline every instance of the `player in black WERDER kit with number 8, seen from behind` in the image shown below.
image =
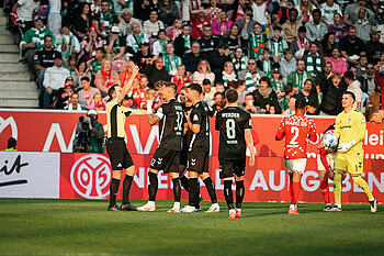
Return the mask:
[[[219,136],[218,160],[219,178],[224,180],[224,197],[229,209],[229,219],[241,218],[241,203],[245,194],[244,172],[246,169],[246,148],[250,151],[249,165],[255,165],[252,120],[250,113],[238,108],[238,92],[225,92],[227,107],[216,114],[216,131]],[[236,209],[231,183],[236,182]]]

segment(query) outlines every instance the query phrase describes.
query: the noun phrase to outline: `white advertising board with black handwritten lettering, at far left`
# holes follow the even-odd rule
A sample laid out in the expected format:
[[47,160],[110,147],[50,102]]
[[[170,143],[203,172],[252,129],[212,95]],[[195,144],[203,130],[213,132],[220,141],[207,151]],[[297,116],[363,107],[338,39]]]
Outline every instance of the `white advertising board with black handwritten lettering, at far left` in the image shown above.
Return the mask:
[[1,198],[59,198],[59,153],[0,152]]

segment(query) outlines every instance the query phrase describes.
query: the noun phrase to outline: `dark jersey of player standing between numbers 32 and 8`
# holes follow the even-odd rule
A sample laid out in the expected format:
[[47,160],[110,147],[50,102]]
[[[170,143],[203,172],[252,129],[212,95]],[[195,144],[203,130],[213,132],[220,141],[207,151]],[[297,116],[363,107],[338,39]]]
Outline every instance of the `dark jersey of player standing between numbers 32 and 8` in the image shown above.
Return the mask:
[[188,132],[188,151],[210,151],[210,119],[208,119],[208,107],[199,101],[190,114],[192,124],[199,124],[199,133]]

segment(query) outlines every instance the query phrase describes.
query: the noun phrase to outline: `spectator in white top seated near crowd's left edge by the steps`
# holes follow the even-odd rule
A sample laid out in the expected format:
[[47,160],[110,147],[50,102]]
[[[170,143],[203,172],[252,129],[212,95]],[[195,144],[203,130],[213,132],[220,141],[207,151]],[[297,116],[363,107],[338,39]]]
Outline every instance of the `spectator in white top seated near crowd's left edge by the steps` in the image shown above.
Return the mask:
[[61,54],[56,54],[54,66],[47,68],[44,74],[44,109],[50,108],[53,96],[56,94],[59,88],[64,87],[65,80],[69,76],[69,70],[63,67]]

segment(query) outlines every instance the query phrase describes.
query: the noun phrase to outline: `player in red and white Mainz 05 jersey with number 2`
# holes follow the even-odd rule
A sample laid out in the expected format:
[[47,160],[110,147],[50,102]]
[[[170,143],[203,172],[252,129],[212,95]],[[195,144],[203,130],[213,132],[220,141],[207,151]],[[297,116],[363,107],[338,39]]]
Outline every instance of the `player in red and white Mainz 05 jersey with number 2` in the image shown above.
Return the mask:
[[297,198],[300,182],[307,164],[307,140],[317,141],[315,121],[304,116],[306,102],[296,100],[296,113],[284,118],[279,125],[275,135],[276,141],[285,137],[284,162],[286,172],[290,176],[291,205],[289,214],[300,214],[297,212]]

